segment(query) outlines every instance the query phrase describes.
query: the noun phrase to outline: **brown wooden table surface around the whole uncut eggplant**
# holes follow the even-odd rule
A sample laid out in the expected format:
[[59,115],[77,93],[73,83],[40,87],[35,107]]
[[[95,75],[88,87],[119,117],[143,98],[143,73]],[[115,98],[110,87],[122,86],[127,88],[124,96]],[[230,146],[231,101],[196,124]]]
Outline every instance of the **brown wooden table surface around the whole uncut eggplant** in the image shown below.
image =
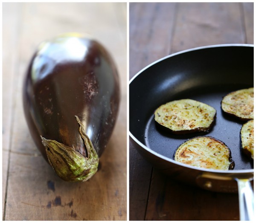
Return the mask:
[[[89,181],[64,182],[35,148],[21,88],[36,46],[86,32],[111,52],[122,102],[101,168]],[[3,3],[3,220],[126,220],[126,3]]]

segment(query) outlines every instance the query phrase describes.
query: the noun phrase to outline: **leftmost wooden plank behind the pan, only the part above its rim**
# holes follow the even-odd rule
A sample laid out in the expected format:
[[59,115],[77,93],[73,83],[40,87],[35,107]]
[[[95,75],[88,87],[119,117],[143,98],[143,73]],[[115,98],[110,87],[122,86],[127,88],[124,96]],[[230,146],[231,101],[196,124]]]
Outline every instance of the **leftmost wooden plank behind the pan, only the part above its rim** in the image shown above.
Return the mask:
[[168,55],[175,7],[175,3],[130,3],[130,78]]

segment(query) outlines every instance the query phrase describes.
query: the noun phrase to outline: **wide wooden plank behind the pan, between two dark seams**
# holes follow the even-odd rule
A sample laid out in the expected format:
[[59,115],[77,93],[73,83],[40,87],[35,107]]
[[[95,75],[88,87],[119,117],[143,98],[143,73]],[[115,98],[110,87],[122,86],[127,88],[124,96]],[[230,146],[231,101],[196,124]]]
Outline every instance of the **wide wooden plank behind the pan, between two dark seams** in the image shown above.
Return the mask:
[[179,3],[172,53],[198,46],[244,43],[239,3]]

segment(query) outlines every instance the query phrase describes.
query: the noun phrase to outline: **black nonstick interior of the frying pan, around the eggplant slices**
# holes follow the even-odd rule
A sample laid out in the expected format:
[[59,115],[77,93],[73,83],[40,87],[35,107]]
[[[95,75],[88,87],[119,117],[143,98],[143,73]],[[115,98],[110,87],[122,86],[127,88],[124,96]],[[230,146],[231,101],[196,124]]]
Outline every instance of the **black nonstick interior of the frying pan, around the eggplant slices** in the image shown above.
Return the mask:
[[[129,86],[130,132],[151,150],[173,158],[177,147],[195,136],[212,136],[231,150],[235,170],[252,169],[241,153],[241,126],[245,123],[221,110],[221,100],[235,90],[253,87],[253,47],[221,46],[192,50],[152,64]],[[178,99],[194,99],[217,110],[209,132],[175,135],[159,129],[154,110]]]

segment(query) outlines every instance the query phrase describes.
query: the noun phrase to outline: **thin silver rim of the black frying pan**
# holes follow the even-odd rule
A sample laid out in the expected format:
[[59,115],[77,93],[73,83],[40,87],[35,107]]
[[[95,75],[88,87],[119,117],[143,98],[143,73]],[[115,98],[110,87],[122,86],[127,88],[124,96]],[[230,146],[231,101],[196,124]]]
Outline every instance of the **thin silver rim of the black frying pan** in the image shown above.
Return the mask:
[[[149,64],[148,66],[144,67],[142,70],[140,70],[139,72],[137,72],[136,75],[134,75],[134,77],[131,78],[131,80],[129,81],[129,85],[132,83],[132,81],[134,81],[135,78],[137,78],[138,75],[140,75],[143,71],[145,71],[146,69],[148,69],[149,67],[153,66],[154,64],[159,63],[160,61],[163,61],[167,58],[173,57],[175,55],[179,55],[182,53],[186,53],[186,52],[190,52],[190,51],[195,51],[195,50],[199,50],[199,49],[207,49],[207,48],[215,48],[215,47],[230,47],[230,46],[246,46],[246,47],[254,47],[253,44],[217,44],[217,45],[209,45],[209,46],[199,46],[199,47],[195,47],[195,48],[191,48],[191,49],[186,49],[180,52],[175,52],[171,55],[167,55],[163,58],[158,59],[157,61],[154,61],[153,63]],[[134,140],[134,142],[136,142],[140,147],[142,147],[143,149],[145,149],[146,151],[148,151],[149,153],[153,154],[154,156],[159,157],[160,159],[164,159],[167,162],[171,162],[174,163],[176,165],[180,165],[183,166],[185,168],[191,168],[191,169],[195,169],[197,171],[205,171],[205,172],[211,172],[211,173],[215,173],[215,174],[242,174],[242,173],[254,173],[254,169],[246,169],[246,170],[214,170],[214,169],[207,169],[207,168],[197,168],[191,165],[187,165],[187,164],[183,164],[181,162],[177,162],[174,159],[168,158],[166,156],[163,156],[153,150],[151,150],[150,148],[148,148],[146,145],[144,145],[142,142],[140,142],[129,130],[129,136]]]

